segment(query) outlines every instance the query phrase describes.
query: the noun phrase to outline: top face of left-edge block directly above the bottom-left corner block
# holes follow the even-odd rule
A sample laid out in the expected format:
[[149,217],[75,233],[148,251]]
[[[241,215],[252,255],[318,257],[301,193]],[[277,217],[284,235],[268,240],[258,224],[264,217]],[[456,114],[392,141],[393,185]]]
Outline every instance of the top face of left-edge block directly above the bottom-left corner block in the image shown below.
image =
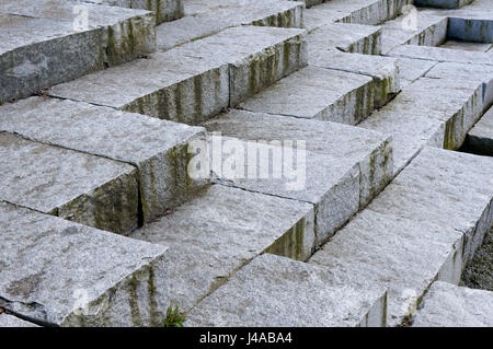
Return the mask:
[[[131,165],[0,133],[0,199],[42,212],[116,179]],[[131,189],[131,188],[130,188]]]

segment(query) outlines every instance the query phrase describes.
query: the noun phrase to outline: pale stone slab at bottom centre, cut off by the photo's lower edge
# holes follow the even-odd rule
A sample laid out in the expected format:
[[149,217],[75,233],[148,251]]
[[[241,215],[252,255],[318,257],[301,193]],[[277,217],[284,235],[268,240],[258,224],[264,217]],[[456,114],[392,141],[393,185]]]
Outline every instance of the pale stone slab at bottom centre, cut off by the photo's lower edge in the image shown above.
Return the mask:
[[383,288],[337,284],[330,270],[262,255],[202,301],[187,326],[385,326]]

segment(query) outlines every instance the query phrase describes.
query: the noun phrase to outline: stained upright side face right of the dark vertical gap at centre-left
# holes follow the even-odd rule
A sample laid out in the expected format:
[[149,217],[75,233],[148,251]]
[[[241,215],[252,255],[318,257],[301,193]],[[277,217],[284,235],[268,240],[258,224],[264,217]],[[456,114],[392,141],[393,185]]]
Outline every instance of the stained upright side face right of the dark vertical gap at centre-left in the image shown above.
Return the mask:
[[139,164],[140,202],[144,223],[163,214],[194,198],[202,189],[210,185],[210,178],[192,178],[188,164],[196,155],[192,142],[204,140],[205,133],[198,133],[188,140]]

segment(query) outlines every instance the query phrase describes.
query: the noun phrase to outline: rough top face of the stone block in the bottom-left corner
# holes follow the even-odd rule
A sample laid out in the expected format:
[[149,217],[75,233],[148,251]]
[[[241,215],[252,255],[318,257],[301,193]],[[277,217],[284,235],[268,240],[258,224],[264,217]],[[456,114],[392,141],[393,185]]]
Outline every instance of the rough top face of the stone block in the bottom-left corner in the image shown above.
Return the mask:
[[[91,304],[92,316],[101,316],[105,302],[111,304],[107,298],[115,291],[118,295],[124,280],[133,275],[139,280],[139,272],[167,252],[163,245],[4,202],[0,202],[0,298],[7,303],[4,307],[48,324],[64,325],[77,304]],[[161,287],[156,282],[156,288]],[[82,295],[82,303],[77,303]]]

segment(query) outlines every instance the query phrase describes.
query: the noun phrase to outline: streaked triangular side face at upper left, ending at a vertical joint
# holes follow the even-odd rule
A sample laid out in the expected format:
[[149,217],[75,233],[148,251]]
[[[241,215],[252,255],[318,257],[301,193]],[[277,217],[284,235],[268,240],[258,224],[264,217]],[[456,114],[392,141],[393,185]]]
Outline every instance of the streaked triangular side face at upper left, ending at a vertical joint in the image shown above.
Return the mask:
[[122,110],[198,125],[229,105],[229,72],[223,65],[139,97]]

